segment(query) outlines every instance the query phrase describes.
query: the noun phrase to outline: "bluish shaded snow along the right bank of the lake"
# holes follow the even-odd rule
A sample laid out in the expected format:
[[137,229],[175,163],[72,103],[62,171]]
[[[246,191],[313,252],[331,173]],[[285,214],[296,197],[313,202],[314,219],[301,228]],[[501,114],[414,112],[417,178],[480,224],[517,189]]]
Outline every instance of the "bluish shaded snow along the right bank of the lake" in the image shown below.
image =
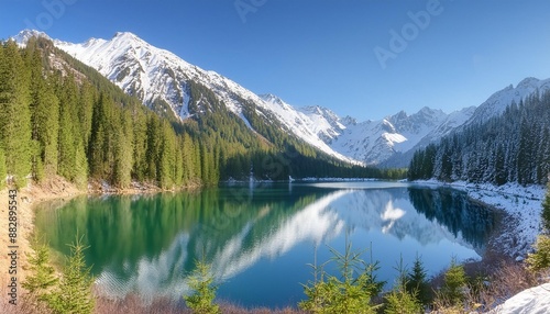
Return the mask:
[[[442,182],[415,181],[416,183],[443,184]],[[542,200],[546,188],[542,186],[522,187],[518,183],[506,183],[496,187],[490,183],[468,183],[457,181],[450,186],[463,190],[476,201],[508,214],[504,221],[506,232],[495,239],[495,245],[502,247],[503,253],[518,260],[524,259],[531,249],[537,235],[540,233]]]

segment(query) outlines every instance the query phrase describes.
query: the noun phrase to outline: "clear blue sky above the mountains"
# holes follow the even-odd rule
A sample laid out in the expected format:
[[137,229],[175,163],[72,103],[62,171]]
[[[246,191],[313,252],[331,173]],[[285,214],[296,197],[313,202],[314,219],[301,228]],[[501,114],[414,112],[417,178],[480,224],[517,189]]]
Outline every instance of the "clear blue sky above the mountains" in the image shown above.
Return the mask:
[[0,0],[0,38],[136,34],[256,93],[360,121],[550,78],[548,0]]

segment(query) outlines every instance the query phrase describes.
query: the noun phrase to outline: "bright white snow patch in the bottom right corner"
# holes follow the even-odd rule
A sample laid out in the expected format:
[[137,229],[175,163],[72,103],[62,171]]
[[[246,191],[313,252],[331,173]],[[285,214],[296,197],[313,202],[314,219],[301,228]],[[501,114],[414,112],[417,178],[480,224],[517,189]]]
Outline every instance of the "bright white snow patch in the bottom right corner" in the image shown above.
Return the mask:
[[498,305],[490,314],[547,314],[550,313],[550,283],[521,291]]

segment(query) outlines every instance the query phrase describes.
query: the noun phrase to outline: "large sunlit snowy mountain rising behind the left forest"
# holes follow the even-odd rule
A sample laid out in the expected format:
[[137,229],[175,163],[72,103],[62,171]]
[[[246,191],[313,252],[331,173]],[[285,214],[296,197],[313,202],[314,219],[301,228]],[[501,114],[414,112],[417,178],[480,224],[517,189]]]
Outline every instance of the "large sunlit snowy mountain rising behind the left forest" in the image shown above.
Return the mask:
[[[24,36],[21,36],[24,38]],[[207,87],[228,110],[251,127],[243,114],[244,102],[255,105],[255,111],[266,121],[275,116],[283,128],[318,149],[350,162],[358,162],[331,149],[307,125],[307,116],[293,106],[264,100],[237,82],[209,70],[188,64],[173,53],[156,48],[132,33],[117,33],[110,41],[90,38],[73,44],[54,41],[54,44],[96,68],[127,93],[136,96],[146,105],[155,100],[169,104],[176,116],[185,120],[205,108],[190,109],[190,81]]]

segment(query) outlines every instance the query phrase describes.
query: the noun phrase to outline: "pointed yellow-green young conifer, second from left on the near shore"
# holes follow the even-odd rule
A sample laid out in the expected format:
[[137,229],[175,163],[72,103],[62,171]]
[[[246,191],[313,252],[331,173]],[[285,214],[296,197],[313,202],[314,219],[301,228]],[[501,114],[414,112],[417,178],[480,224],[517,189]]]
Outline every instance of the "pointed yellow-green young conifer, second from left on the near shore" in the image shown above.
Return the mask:
[[94,278],[91,268],[86,267],[84,260],[82,237],[76,237],[70,245],[70,256],[67,260],[59,284],[52,293],[51,307],[55,313],[92,313],[95,301],[91,292]]

